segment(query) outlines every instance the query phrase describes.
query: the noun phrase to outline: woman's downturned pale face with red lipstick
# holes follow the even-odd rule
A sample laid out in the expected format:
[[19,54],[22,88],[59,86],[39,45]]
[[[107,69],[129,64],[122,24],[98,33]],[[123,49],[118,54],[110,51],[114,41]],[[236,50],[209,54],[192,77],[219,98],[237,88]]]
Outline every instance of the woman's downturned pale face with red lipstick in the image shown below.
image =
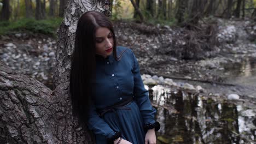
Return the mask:
[[106,58],[113,52],[113,34],[106,27],[99,27],[96,30],[96,53]]

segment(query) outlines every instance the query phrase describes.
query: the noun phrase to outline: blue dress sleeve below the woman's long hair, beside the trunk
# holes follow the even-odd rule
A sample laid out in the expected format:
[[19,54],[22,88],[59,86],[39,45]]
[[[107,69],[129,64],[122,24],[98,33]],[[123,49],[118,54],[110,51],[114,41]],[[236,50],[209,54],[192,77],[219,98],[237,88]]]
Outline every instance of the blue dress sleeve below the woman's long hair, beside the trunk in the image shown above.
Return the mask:
[[109,127],[109,125],[100,118],[96,112],[95,104],[92,102],[88,115],[88,128],[94,131],[94,134],[101,134],[107,138],[115,135],[115,131]]

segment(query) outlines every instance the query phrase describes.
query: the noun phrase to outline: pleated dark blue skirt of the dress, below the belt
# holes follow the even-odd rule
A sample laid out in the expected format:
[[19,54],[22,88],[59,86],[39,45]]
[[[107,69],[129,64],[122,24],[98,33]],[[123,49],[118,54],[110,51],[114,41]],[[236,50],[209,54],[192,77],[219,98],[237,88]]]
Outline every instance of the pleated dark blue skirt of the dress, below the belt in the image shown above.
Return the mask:
[[[117,109],[113,112],[105,113],[103,119],[114,131],[121,131],[123,139],[133,144],[144,143],[145,131],[144,121],[135,101],[129,105],[131,110]],[[103,135],[95,135],[97,144],[107,144],[107,139]]]

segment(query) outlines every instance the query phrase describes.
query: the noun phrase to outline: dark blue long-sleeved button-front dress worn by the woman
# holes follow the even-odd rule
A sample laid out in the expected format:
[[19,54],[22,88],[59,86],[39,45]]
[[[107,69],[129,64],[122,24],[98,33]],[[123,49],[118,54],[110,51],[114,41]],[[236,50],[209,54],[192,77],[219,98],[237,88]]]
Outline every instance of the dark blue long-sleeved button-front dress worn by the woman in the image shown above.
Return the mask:
[[[107,143],[107,139],[120,131],[123,139],[133,144],[144,143],[147,131],[144,125],[155,122],[156,110],[152,107],[148,91],[144,88],[137,59],[131,49],[117,47],[118,59],[96,55],[96,79],[92,80],[92,106],[88,127],[96,137],[96,143]],[[125,109],[109,111],[99,116],[97,110],[134,100]],[[126,109],[127,108],[127,109]]]

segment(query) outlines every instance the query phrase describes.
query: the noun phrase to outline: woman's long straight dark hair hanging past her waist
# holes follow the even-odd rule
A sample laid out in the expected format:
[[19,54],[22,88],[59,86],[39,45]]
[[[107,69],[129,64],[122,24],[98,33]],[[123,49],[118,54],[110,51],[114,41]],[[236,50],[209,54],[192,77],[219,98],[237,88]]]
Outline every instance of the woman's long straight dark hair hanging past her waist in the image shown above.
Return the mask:
[[117,59],[117,42],[113,25],[108,17],[98,11],[87,11],[84,13],[78,20],[77,31],[75,32],[69,83],[73,114],[78,116],[80,124],[85,124],[88,121],[91,89],[93,88],[90,82],[96,78],[95,33],[99,27],[106,27],[113,33],[113,56]]

